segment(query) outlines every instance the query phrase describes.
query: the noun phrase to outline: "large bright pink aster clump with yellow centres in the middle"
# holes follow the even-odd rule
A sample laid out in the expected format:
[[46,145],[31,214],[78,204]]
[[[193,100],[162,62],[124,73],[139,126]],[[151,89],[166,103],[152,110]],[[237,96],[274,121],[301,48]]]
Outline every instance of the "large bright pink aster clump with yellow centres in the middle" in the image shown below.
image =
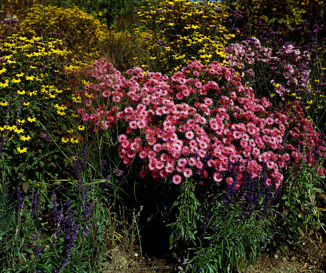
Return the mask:
[[[118,137],[120,157],[125,164],[143,161],[143,178],[150,173],[179,184],[200,175],[221,182],[232,169],[236,175],[226,183],[237,189],[244,172],[277,188],[289,164],[304,159],[313,165],[313,154],[324,152],[298,103],[271,111],[266,98],[255,99],[234,70],[218,62],[189,61],[170,78],[137,67],[125,77],[105,59],[89,72],[97,83],[85,85],[79,96],[92,94],[114,104],[87,100],[79,114],[94,130],[117,123],[124,130]],[[302,134],[309,142],[301,141]]]

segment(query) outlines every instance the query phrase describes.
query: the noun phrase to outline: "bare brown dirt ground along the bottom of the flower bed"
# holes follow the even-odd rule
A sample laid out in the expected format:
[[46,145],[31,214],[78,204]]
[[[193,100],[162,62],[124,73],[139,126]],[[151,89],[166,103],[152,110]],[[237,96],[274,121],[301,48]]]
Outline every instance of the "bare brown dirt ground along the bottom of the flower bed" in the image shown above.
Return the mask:
[[[310,238],[301,238],[295,244],[288,244],[285,250],[281,246],[270,252],[264,252],[256,263],[250,264],[246,273],[326,273],[326,238],[313,234]],[[168,273],[178,272],[178,265],[171,261],[156,259],[144,255],[141,258],[139,247],[119,247],[105,249],[111,261],[103,263],[103,273],[137,272]]]

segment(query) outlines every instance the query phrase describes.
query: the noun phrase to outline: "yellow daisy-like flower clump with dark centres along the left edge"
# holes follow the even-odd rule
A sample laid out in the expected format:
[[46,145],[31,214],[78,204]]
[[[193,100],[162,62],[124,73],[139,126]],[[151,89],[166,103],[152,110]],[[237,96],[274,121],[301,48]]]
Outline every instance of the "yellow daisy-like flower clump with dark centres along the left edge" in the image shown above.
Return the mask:
[[[39,37],[13,34],[0,44],[0,152],[11,142],[14,153],[25,154],[36,149],[36,140],[55,139],[66,127],[58,121],[73,113],[67,113],[64,101],[70,88],[63,80],[76,67],[80,70],[80,64],[66,65],[69,51],[62,40],[50,38],[47,49]],[[76,134],[66,135],[67,142],[77,143]]]

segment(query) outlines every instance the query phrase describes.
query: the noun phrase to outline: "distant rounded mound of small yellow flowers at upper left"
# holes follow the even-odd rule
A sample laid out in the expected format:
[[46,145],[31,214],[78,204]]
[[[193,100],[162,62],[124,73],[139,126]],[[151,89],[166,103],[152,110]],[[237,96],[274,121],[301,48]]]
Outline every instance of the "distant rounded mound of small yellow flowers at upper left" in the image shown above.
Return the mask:
[[19,18],[18,32],[22,32],[28,38],[39,36],[45,40],[44,19],[49,37],[62,38],[73,47],[76,54],[90,58],[99,57],[98,43],[103,46],[108,35],[106,26],[101,24],[96,16],[78,7],[47,5],[44,10],[43,5],[34,4],[23,10]]

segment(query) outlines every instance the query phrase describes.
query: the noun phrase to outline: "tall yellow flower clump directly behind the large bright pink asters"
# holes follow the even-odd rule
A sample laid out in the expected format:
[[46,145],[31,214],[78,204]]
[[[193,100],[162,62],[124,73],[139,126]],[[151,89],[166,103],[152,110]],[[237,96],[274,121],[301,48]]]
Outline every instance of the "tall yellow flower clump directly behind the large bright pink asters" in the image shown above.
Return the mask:
[[[175,72],[188,60],[209,64],[226,56],[223,46],[234,37],[225,26],[218,3],[210,1],[160,1],[157,8],[139,9],[135,13],[143,26],[138,38],[148,48],[151,69]],[[137,38],[137,37],[135,37]]]

